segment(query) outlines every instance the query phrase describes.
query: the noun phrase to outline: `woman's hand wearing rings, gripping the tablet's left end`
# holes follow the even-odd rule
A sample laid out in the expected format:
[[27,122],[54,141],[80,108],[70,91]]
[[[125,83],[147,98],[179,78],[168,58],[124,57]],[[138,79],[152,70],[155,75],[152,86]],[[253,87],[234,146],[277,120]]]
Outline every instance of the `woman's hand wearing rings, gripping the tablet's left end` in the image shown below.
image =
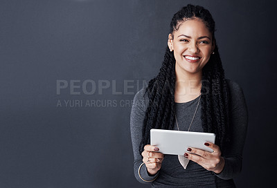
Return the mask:
[[156,174],[161,169],[163,162],[163,153],[159,152],[159,148],[152,145],[145,145],[143,153],[143,162],[145,163],[150,175]]

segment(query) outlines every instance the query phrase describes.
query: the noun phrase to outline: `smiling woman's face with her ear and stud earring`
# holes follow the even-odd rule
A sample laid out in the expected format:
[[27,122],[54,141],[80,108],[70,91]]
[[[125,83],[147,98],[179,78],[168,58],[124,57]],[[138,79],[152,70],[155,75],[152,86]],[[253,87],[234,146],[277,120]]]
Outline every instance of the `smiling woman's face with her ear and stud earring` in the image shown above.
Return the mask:
[[168,47],[176,59],[176,71],[198,73],[210,59],[214,45],[212,34],[199,19],[181,23],[179,29],[168,35]]

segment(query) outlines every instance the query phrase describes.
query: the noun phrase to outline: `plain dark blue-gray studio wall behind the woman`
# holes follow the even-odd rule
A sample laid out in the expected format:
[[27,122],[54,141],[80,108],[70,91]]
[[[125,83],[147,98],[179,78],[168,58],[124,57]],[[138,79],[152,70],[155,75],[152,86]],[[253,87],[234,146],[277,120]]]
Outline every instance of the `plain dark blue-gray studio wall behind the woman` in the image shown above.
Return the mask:
[[[274,1],[1,0],[0,187],[149,187],[134,178],[129,102],[159,72],[170,20],[187,3],[211,11],[226,77],[247,100],[235,182],[275,182]],[[68,82],[60,95],[58,80]]]

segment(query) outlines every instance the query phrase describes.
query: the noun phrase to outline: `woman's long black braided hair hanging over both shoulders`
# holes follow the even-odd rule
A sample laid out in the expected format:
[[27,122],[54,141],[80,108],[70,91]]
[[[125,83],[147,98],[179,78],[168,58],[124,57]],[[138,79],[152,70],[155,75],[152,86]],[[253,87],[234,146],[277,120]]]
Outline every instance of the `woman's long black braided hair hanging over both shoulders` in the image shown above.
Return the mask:
[[[200,19],[213,35],[215,54],[211,55],[202,68],[201,120],[204,132],[215,133],[215,144],[224,155],[224,146],[230,141],[229,88],[215,40],[215,21],[211,13],[202,6],[188,4],[173,16],[170,33],[178,30],[179,24],[187,19]],[[175,124],[175,64],[174,53],[167,47],[158,75],[148,82],[145,89],[144,95],[148,95],[149,104],[143,120],[140,153],[146,144],[150,144],[150,129],[173,129]]]

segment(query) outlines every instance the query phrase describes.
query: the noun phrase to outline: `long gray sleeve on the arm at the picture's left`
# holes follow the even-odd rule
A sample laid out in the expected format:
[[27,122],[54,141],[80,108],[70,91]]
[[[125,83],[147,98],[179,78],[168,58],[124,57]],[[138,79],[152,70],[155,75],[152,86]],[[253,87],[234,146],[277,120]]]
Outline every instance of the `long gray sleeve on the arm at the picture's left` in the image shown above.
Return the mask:
[[[150,183],[152,180],[157,178],[157,176],[159,175],[159,172],[155,176],[150,176],[145,167],[145,164],[141,166],[141,164],[143,163],[143,158],[139,153],[139,145],[141,143],[143,120],[144,120],[145,111],[146,111],[145,103],[148,102],[143,97],[144,92],[145,92],[145,88],[141,89],[134,96],[134,101],[132,104],[132,110],[130,115],[130,129],[131,129],[131,139],[132,139],[132,146],[133,146],[133,152],[134,152],[134,175],[139,182]],[[141,169],[139,171],[140,166],[141,166]],[[139,177],[139,174],[141,175],[141,177]]]

